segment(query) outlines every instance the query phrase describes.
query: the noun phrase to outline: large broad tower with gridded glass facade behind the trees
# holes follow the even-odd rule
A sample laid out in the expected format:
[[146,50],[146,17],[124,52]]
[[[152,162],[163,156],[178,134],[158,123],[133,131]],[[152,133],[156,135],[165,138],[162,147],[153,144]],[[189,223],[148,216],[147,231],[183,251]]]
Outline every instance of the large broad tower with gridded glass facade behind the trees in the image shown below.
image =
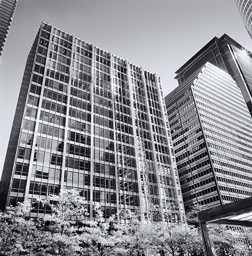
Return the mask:
[[160,77],[53,25],[29,53],[2,175],[2,207],[80,190],[89,213],[176,205],[178,175]]

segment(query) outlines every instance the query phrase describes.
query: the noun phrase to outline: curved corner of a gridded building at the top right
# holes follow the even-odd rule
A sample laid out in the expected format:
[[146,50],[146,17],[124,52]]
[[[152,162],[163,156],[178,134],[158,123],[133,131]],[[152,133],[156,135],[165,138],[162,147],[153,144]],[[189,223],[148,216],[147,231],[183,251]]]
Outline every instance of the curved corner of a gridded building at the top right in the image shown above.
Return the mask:
[[232,0],[243,24],[252,38],[252,0]]

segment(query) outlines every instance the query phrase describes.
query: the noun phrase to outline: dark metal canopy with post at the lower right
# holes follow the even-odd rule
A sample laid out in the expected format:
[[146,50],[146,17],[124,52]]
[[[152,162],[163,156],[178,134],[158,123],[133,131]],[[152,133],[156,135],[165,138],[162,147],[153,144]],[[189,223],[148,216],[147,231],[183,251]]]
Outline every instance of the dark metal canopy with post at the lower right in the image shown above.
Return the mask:
[[207,224],[252,227],[252,197],[198,212],[206,256],[213,256]]

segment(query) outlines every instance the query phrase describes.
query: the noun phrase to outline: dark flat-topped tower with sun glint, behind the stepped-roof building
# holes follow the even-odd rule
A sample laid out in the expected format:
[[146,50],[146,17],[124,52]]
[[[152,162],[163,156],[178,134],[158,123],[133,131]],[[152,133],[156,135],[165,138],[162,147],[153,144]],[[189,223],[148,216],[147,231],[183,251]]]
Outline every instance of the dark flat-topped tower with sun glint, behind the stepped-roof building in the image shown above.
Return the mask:
[[226,34],[214,37],[175,73],[181,84],[206,62],[230,74],[240,88],[252,116],[252,54]]

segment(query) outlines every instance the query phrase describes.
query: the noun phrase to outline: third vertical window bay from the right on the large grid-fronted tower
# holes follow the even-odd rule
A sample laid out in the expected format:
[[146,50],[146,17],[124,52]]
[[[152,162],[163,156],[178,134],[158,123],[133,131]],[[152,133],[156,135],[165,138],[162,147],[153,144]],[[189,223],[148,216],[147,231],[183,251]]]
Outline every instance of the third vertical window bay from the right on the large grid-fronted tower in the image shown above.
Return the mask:
[[114,107],[120,208],[140,206],[131,92],[127,62],[113,57]]

